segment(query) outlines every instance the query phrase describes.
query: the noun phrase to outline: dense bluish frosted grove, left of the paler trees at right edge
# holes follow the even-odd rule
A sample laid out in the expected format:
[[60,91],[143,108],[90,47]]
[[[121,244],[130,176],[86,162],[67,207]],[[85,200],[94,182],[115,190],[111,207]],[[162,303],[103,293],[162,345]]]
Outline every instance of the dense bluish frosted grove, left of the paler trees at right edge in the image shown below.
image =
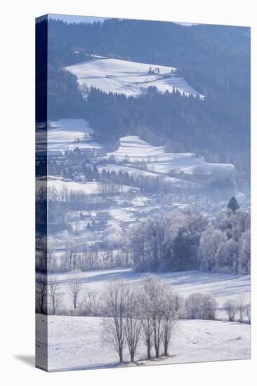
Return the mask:
[[134,225],[129,229],[128,242],[136,269],[197,269],[197,246],[207,225],[207,218],[200,213],[176,210]]

